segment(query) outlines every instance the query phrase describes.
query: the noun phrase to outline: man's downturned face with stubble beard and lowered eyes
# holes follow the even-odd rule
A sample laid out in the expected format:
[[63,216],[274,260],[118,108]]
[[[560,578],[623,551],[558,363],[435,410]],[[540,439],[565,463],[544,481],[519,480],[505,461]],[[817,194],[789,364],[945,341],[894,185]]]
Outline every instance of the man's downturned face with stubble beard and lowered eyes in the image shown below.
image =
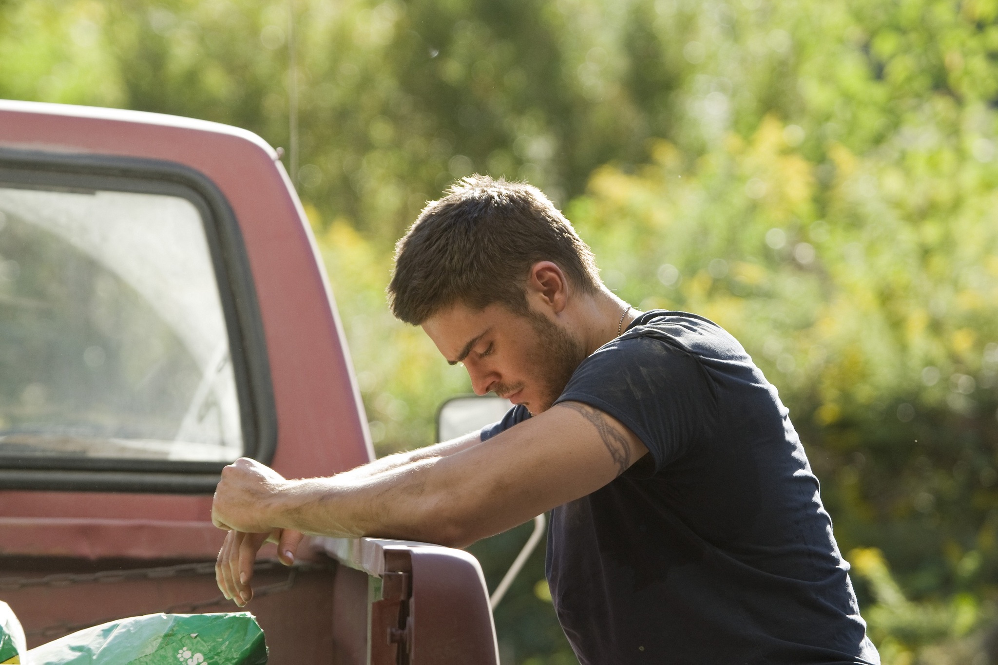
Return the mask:
[[493,392],[536,415],[551,408],[585,357],[582,344],[543,314],[458,304],[422,324],[451,364],[462,363],[478,395]]

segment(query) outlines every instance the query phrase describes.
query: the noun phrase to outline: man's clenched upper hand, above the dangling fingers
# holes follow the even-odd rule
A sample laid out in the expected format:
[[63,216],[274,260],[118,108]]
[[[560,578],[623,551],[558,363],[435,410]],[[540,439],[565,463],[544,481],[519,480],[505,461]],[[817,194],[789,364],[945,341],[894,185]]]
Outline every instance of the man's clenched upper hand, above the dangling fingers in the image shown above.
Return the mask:
[[240,458],[222,470],[222,481],[212,503],[212,521],[226,530],[269,533],[276,524],[268,521],[268,499],[287,485],[288,482],[269,467]]

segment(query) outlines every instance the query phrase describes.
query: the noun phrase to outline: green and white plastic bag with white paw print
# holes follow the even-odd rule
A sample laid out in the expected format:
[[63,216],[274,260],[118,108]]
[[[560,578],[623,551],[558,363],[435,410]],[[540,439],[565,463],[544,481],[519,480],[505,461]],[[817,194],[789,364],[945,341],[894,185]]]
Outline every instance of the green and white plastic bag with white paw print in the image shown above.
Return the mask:
[[31,665],[264,665],[263,631],[249,612],[147,614],[35,647]]

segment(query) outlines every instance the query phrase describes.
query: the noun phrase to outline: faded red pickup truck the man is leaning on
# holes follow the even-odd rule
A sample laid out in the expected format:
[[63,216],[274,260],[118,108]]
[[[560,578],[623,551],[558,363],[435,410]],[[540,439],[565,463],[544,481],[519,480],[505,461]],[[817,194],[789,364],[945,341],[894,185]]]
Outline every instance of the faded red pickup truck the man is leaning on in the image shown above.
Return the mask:
[[[233,611],[222,468],[373,457],[343,330],[277,153],[183,118],[0,101],[0,600],[30,645]],[[498,662],[470,554],[313,538],[257,559],[270,662]]]

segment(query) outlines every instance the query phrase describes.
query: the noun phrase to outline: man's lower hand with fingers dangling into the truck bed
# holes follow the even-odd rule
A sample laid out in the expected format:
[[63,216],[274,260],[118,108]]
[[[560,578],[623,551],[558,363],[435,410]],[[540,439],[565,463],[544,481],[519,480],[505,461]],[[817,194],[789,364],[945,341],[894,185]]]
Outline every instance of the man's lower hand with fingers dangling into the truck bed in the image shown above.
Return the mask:
[[229,531],[215,563],[215,581],[223,595],[240,607],[245,606],[252,599],[252,565],[260,546],[264,542],[276,542],[277,558],[284,565],[290,565],[301,537],[300,531],[290,528],[276,528],[269,533]]

